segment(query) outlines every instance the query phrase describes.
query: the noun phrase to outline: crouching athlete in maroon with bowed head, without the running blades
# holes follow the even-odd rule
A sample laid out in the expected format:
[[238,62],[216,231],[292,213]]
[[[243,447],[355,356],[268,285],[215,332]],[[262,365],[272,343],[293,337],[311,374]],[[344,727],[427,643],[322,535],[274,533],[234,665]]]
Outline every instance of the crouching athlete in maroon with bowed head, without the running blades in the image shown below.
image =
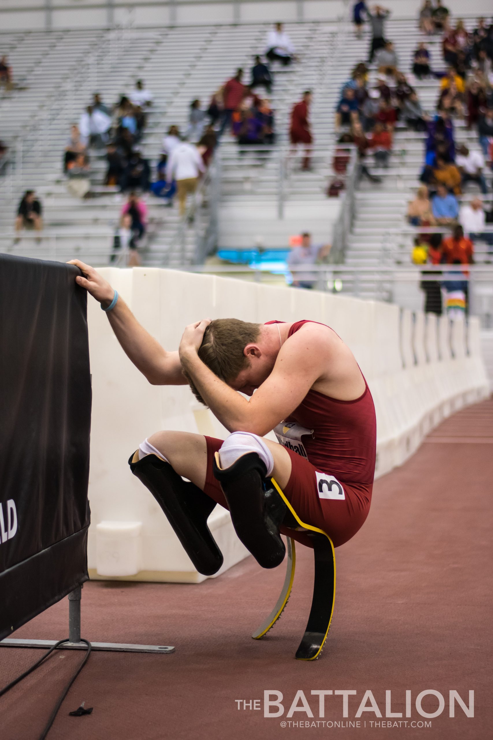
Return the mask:
[[[290,528],[271,477],[300,519],[334,546],[356,534],[370,508],[375,410],[353,354],[332,329],[305,320],[202,320],[186,327],[178,351],[166,351],[106,280],[72,263],[149,383],[189,383],[231,432],[223,441],[157,431],[129,459],[198,571],[211,575],[222,565],[207,526],[216,503],[229,508],[239,539],[265,568],[284,557],[279,532],[310,545]],[[271,430],[278,442],[264,438]]]

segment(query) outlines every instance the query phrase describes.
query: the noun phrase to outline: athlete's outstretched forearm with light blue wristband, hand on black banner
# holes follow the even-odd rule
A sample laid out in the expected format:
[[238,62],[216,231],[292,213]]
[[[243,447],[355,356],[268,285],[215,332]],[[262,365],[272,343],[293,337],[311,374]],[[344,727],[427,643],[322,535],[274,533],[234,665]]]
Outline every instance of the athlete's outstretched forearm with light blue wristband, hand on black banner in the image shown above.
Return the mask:
[[[76,277],[78,285],[85,288],[101,306],[107,308],[113,300],[114,290],[96,270],[80,260],[70,260],[84,277]],[[180,357],[177,351],[167,352],[154,337],[138,323],[122,297],[106,316],[115,336],[129,360],[153,386],[184,386]]]

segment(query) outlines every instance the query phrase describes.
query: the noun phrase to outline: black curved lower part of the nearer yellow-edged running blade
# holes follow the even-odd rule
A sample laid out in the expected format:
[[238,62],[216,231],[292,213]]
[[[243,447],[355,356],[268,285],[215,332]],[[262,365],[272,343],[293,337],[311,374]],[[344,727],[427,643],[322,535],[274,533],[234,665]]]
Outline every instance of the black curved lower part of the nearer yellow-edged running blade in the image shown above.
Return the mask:
[[313,542],[315,577],[307,628],[296,650],[299,660],[313,660],[322,652],[332,619],[336,582],[336,562],[330,540],[323,534],[306,534]]

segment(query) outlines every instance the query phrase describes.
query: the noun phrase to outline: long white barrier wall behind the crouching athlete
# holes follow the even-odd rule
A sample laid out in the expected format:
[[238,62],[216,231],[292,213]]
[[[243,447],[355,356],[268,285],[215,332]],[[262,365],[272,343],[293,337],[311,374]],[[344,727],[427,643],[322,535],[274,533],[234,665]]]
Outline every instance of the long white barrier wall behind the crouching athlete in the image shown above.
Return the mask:
[[[467,327],[463,322],[451,327],[445,317],[316,291],[164,269],[108,267],[99,272],[166,349],[177,349],[186,324],[203,317],[259,323],[313,319],[331,326],[355,354],[375,400],[377,476],[401,465],[452,411],[488,394],[475,318]],[[203,576],[152,495],[130,473],[127,460],[160,429],[221,438],[227,432],[188,386],[151,386],[90,297],[88,322],[93,394],[89,573],[93,578],[200,582]],[[209,523],[225,556],[224,571],[247,552],[227,511],[218,506]]]

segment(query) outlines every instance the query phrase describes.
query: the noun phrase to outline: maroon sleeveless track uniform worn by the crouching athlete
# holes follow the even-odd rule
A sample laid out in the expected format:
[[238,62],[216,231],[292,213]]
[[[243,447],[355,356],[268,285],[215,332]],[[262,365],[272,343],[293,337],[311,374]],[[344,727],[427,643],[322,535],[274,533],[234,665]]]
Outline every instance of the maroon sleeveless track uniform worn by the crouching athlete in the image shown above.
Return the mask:
[[[282,323],[268,321],[267,323]],[[288,337],[308,323],[296,321]],[[319,323],[319,322],[313,322]],[[375,474],[375,407],[366,380],[363,394],[352,401],[341,401],[318,391],[308,391],[302,403],[285,420],[312,430],[313,437],[302,437],[307,457],[286,448],[291,458],[291,475],[285,496],[303,522],[319,527],[331,537],[335,547],[344,544],[363,524],[370,510]],[[207,441],[207,476],[204,491],[225,506],[225,498],[212,473],[214,452],[222,440]],[[293,445],[296,446],[296,445]],[[334,477],[343,488],[343,498],[323,498],[319,494],[321,474]],[[305,545],[310,539],[302,532],[282,528]]]

